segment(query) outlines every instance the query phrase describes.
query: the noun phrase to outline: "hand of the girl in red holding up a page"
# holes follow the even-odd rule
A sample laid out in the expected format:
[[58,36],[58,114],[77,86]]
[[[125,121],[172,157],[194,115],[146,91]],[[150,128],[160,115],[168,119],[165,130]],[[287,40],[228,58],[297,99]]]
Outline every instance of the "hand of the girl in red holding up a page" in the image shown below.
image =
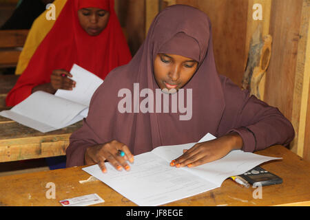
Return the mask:
[[54,90],[72,90],[76,86],[76,82],[68,77],[72,77],[72,74],[64,69],[55,69],[50,76],[50,84],[52,85],[52,88]]

